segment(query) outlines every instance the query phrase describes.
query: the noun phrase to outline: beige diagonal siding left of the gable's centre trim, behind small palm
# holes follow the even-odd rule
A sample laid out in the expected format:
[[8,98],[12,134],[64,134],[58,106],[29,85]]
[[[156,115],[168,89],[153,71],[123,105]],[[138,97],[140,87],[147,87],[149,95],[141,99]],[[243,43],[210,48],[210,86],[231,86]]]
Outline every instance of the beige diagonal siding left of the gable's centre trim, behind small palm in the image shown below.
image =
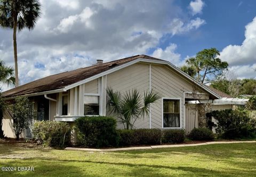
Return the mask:
[[[149,64],[134,64],[122,70],[118,70],[107,75],[107,87],[121,91],[137,89],[143,95],[149,90]],[[106,113],[107,115],[108,112]],[[149,118],[144,117],[135,122],[135,128],[149,128]],[[118,128],[124,128],[123,124],[118,124]]]

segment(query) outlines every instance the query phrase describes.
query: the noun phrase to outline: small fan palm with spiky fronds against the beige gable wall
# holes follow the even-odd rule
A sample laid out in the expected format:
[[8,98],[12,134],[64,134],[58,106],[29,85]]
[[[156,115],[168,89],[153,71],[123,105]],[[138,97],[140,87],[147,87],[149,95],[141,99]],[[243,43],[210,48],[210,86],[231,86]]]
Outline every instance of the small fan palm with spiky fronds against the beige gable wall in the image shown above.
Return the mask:
[[107,88],[109,113],[118,116],[125,129],[134,127],[137,119],[149,115],[149,106],[160,96],[153,90],[144,92],[144,97],[136,89],[127,91],[124,96],[121,92]]

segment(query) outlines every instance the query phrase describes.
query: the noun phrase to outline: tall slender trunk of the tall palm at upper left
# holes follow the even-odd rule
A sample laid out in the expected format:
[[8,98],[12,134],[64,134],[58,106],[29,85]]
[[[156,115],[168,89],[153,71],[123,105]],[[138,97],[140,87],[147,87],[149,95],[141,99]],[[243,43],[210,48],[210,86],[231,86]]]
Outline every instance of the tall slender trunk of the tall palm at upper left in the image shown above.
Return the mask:
[[[14,8],[16,4],[14,3]],[[13,22],[13,52],[14,52],[14,63],[15,63],[15,87],[19,86],[19,77],[18,77],[18,57],[17,57],[17,13],[14,13],[14,22]]]

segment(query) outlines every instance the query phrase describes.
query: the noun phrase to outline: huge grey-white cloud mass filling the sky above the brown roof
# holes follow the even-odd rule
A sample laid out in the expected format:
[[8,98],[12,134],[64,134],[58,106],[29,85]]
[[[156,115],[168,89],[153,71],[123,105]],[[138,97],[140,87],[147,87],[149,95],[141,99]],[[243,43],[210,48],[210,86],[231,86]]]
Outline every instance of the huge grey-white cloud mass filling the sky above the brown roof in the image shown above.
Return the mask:
[[[186,12],[169,0],[162,3],[42,0],[41,3],[42,14],[34,30],[17,34],[21,84],[86,67],[96,59],[107,62],[147,54],[164,35],[181,35],[205,23],[199,18],[191,20],[189,14],[185,17]],[[0,58],[14,66],[12,31],[0,29],[0,38]],[[176,47],[171,44],[154,55],[158,53],[163,59],[179,63]]]

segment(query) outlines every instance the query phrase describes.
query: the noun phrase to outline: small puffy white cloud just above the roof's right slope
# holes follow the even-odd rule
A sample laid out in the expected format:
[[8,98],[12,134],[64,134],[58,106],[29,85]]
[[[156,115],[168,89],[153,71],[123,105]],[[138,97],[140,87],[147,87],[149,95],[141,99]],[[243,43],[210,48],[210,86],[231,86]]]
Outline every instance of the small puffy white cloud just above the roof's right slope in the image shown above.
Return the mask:
[[175,65],[180,65],[181,57],[180,57],[180,54],[175,53],[175,49],[177,49],[177,45],[170,44],[164,50],[162,48],[157,48],[153,52],[152,56],[170,61],[172,64],[175,64]]

